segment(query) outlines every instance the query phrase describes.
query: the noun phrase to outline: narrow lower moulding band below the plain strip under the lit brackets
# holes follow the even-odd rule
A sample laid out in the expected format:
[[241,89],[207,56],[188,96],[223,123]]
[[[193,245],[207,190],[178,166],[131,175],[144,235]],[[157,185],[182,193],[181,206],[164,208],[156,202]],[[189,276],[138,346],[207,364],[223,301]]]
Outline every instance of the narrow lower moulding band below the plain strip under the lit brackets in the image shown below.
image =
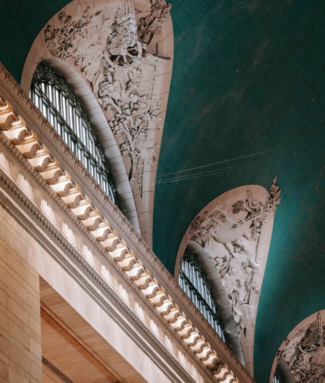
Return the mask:
[[[0,135],[0,137],[1,136],[2,135]],[[175,382],[178,380],[177,375],[173,373],[174,370],[183,376],[184,381],[195,383],[193,378],[176,362],[175,358],[166,350],[161,342],[153,336],[152,332],[142,323],[134,312],[129,309],[115,291],[109,287],[94,268],[84,260],[74,247],[69,244],[61,233],[1,170],[0,185],[2,185],[2,187],[4,186],[6,194],[10,197],[8,198],[3,191],[0,190],[0,204],[3,208],[10,212],[11,215],[14,215],[15,219],[34,237],[37,243],[59,262],[63,269],[87,291],[92,299],[127,332],[130,338],[140,345],[146,355],[156,361],[157,355],[154,354],[158,354],[160,363],[165,360],[164,370],[168,371]],[[16,201],[17,204],[13,201]],[[45,236],[44,233],[48,236]],[[116,264],[113,266],[119,267]],[[132,283],[131,280],[128,282]],[[144,301],[144,296],[141,298]],[[114,308],[114,310],[112,310],[112,308]],[[152,308],[153,307],[151,307],[151,309]],[[164,325],[166,326],[166,323],[164,323]],[[136,328],[137,331],[134,331],[134,328]],[[142,336],[139,336],[139,334]],[[171,335],[175,336],[175,334]],[[177,336],[177,340],[179,347],[184,348],[179,335]],[[148,348],[148,346],[150,348]],[[188,352],[188,350],[184,351]],[[192,356],[197,358],[194,354]],[[196,359],[195,364],[197,364],[197,362],[198,360]],[[201,366],[201,369],[202,372],[207,373],[206,368],[202,368]]]

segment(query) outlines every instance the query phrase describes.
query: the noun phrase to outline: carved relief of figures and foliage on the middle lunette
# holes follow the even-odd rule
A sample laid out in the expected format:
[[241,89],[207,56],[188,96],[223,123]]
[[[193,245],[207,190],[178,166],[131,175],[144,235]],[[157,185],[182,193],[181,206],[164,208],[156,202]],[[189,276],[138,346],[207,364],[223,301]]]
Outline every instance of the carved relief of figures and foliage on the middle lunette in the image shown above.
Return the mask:
[[248,189],[246,198],[233,201],[230,209],[217,206],[197,216],[190,226],[190,240],[200,244],[215,262],[239,333],[245,334],[247,325],[254,323],[253,310],[259,296],[255,275],[260,273],[257,247],[269,213],[273,214],[280,204],[280,189],[275,182],[276,177],[266,201],[254,199]]

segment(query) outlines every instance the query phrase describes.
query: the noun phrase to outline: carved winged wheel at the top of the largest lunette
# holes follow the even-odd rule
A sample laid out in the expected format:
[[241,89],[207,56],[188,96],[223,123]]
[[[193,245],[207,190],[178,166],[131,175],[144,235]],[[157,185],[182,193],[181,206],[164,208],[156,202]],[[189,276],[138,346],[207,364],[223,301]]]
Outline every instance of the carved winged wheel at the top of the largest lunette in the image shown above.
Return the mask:
[[106,57],[113,67],[127,68],[139,61],[157,65],[169,58],[145,52],[147,45],[138,37],[132,0],[122,0],[117,9],[116,21],[108,37]]

